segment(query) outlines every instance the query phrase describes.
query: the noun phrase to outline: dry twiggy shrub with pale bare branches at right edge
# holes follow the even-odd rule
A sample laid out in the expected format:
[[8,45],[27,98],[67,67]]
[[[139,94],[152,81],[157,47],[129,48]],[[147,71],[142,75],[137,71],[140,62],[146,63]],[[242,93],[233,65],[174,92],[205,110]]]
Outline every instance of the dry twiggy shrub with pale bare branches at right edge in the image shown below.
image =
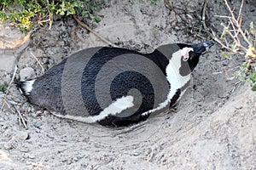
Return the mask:
[[245,26],[242,26],[241,10],[244,0],[241,1],[238,16],[230,8],[227,0],[224,0],[224,2],[230,11],[230,16],[219,15],[218,17],[229,21],[227,25],[221,24],[224,27],[222,35],[214,40],[227,50],[223,53],[225,58],[232,59],[230,54],[238,54],[245,58],[245,63],[241,65],[240,71],[237,71],[236,75],[249,81],[252,90],[256,91],[256,31],[253,22],[250,23],[250,26],[247,26],[248,29],[243,29]]

